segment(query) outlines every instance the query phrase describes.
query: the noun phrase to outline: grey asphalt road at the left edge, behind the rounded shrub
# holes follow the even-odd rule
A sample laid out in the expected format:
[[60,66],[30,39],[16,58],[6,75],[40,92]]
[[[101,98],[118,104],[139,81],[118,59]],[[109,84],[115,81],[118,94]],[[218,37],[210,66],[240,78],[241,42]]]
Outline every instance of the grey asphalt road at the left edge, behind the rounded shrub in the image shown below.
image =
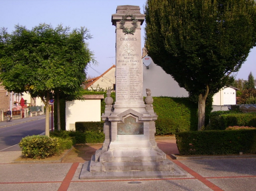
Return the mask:
[[[51,119],[50,119],[51,120]],[[45,119],[33,120],[0,128],[0,151],[19,150],[17,145],[23,137],[45,132]]]

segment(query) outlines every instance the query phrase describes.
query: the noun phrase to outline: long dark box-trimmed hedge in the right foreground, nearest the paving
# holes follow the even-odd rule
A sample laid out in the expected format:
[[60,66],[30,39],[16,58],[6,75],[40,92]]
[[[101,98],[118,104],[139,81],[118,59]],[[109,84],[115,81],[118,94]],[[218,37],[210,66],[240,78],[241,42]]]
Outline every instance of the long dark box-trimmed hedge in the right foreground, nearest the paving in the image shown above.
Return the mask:
[[181,155],[256,153],[256,130],[180,132],[176,143]]

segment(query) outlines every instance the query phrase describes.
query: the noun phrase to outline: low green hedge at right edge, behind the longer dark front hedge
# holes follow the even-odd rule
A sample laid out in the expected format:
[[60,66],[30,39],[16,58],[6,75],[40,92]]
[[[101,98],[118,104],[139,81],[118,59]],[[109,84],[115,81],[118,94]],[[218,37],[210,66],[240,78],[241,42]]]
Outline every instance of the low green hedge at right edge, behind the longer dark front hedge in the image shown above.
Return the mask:
[[241,113],[237,111],[212,112],[210,126],[207,130],[225,130],[228,126],[256,127],[256,113]]

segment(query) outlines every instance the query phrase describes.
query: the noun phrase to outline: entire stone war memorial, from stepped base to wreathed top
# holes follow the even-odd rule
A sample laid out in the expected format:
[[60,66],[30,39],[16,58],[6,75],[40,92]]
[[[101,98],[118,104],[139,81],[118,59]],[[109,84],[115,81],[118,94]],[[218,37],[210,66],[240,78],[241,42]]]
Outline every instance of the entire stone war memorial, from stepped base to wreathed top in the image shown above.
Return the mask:
[[142,87],[141,24],[139,6],[117,6],[112,15],[116,26],[116,101],[108,90],[105,141],[92,160],[85,162],[80,179],[153,178],[184,176],[155,141],[153,98]]

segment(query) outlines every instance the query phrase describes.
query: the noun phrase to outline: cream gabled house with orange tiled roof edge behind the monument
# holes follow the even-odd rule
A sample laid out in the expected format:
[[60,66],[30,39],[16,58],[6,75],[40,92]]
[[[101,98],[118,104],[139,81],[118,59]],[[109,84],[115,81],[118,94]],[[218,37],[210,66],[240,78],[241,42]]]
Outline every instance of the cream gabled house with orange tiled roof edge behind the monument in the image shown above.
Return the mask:
[[106,72],[100,76],[89,79],[84,83],[84,89],[88,90],[115,90],[115,68],[116,66],[111,66]]

